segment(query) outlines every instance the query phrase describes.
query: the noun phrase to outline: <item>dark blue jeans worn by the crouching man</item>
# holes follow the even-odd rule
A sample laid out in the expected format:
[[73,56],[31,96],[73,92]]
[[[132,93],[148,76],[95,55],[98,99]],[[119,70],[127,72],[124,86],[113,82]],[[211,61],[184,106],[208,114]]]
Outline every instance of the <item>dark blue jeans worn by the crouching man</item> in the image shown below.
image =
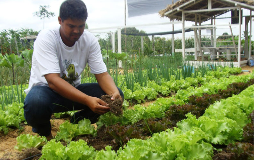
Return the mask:
[[[98,83],[85,83],[76,87],[85,94],[100,98],[106,93],[100,88]],[[120,95],[124,97],[123,92],[118,88]],[[63,106],[63,107],[62,107]],[[47,86],[34,86],[27,94],[24,100],[24,116],[32,131],[41,136],[48,136],[51,133],[52,113],[66,112],[71,110],[81,110],[75,113],[74,117],[83,117],[91,120],[91,123],[97,122],[100,116],[94,113],[89,107],[68,100],[57,92],[54,92]]]

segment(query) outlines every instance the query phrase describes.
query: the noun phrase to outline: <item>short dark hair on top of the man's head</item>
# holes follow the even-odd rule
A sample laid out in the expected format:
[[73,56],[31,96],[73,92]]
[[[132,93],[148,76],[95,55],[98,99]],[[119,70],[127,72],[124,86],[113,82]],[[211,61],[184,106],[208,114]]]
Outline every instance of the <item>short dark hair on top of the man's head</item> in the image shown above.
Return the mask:
[[88,16],[86,5],[81,0],[66,0],[60,5],[61,20],[86,20]]

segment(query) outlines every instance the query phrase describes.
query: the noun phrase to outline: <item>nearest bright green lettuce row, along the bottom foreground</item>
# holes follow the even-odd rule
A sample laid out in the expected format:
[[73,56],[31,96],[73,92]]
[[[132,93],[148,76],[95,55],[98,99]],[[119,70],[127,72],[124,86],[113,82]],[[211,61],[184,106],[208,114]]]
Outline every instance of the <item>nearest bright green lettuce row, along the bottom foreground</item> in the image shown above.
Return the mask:
[[[111,146],[97,151],[84,140],[71,141],[63,146],[55,139],[46,143],[44,137],[31,137],[38,139],[34,145],[46,143],[40,159],[212,159],[212,144],[228,145],[243,139],[243,127],[250,123],[247,117],[253,111],[253,87],[251,85],[238,95],[215,102],[199,118],[188,113],[173,130],[155,133],[146,140],[129,140],[117,152],[111,150]],[[22,136],[25,138],[20,138],[19,144],[28,145],[23,143],[29,141],[26,138],[30,135]],[[20,143],[21,139],[23,143]]]

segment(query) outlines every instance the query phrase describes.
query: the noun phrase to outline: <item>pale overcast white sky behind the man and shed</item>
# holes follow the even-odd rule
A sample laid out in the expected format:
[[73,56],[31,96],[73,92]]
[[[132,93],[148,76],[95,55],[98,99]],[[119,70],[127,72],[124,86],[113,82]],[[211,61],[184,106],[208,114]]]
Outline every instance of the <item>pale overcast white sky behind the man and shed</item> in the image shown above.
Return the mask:
[[[103,28],[113,26],[124,26],[124,0],[83,0],[86,4],[88,11],[88,19],[86,23],[89,28]],[[59,8],[63,0],[0,0],[0,31],[3,29],[33,29],[40,31],[44,28],[59,27],[58,15]],[[55,16],[50,19],[40,20],[38,17],[33,16],[33,13],[39,11],[40,5],[50,5],[48,11],[54,12]],[[243,15],[249,15],[248,10],[243,10]],[[252,12],[253,14],[253,12]],[[222,17],[229,17],[231,13],[223,14]],[[216,20],[216,24],[228,24],[229,19]],[[149,23],[164,23],[170,22],[168,18],[161,18],[158,13],[142,15],[137,17],[128,18],[128,11],[126,6],[126,25],[149,24]],[[254,25],[252,21],[252,35],[254,35]],[[204,24],[210,22],[205,22]],[[185,22],[185,26],[192,26],[194,23]],[[244,24],[244,23],[243,23]],[[143,26],[136,27],[139,30],[144,30],[147,33],[166,32],[172,31],[172,25],[156,25],[156,26]],[[181,29],[181,24],[175,24],[174,30]],[[232,27],[233,34],[238,33],[238,26]],[[244,25],[242,25],[242,33]],[[115,32],[114,29],[99,30],[99,32]],[[222,33],[230,33],[228,27],[219,27],[217,35]],[[97,33],[95,33],[97,34]],[[193,32],[187,32],[186,37],[193,36]],[[106,37],[106,34],[100,33],[101,37]],[[206,30],[202,31],[202,35],[209,35]],[[171,35],[161,37],[171,38]],[[180,38],[181,34],[175,34],[175,38]]]

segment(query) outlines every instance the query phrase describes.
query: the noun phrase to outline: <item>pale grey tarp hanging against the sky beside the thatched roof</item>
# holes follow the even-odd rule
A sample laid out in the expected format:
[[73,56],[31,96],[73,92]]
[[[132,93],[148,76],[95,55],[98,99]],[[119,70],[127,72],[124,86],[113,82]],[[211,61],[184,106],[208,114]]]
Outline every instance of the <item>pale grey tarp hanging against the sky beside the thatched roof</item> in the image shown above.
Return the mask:
[[157,13],[168,4],[172,4],[172,0],[127,0],[128,17]]

